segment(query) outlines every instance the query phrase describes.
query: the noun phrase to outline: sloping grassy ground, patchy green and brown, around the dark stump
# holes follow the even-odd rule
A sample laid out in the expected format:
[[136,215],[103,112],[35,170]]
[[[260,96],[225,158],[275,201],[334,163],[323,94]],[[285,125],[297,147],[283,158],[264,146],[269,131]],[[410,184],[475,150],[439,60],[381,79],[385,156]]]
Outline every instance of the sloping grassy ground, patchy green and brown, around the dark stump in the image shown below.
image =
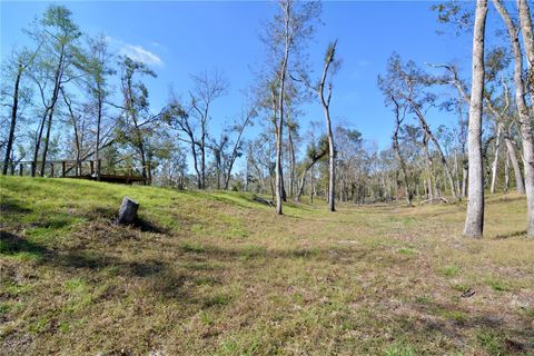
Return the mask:
[[[2,355],[534,353],[525,199],[288,205],[72,179],[1,177]],[[122,197],[140,225],[112,220]]]

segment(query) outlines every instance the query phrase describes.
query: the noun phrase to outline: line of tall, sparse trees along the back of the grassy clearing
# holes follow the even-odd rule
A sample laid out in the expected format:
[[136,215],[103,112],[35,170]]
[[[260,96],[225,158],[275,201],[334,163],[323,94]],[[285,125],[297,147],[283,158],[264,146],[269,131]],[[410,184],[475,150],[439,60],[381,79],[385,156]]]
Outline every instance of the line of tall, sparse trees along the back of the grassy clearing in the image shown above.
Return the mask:
[[[389,57],[377,79],[392,109],[392,145],[382,150],[350,125],[333,122],[342,61],[336,39],[323,58],[309,57],[320,28],[318,1],[277,2],[259,36],[265,62],[222,130],[212,128],[214,102],[229,91],[222,70],[191,75],[186,93],[171,89],[166,105],[154,108],[151,68],[112,53],[105,34],[85,34],[67,7],[49,6],[24,30],[32,46],[13,49],[2,63],[2,172],[31,160],[31,176],[47,176],[51,159],[93,159],[96,179],[105,169],[134,167],[154,185],[271,195],[277,214],[303,197],[326,199],[329,211],[336,201],[413,206],[466,198],[464,234],[474,237],[483,234],[485,190],[516,190],[526,195],[532,236],[532,13],[525,0],[491,2],[502,20],[493,48],[484,41],[487,0],[433,7],[441,22],[473,32],[468,80],[446,59]],[[322,108],[323,118],[304,126],[306,105]],[[457,121],[433,127],[432,110]],[[259,127],[254,135],[253,125]]]

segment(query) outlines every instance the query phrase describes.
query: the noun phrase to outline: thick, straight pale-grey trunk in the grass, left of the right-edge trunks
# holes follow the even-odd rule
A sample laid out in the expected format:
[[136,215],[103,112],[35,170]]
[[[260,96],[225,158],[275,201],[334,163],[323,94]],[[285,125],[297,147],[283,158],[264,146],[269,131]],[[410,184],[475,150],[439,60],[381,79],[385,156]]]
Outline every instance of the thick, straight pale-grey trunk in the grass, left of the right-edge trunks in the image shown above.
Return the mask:
[[472,89],[468,123],[468,201],[464,235],[482,237],[484,230],[484,185],[482,162],[482,110],[484,93],[484,32],[486,27],[487,0],[476,1],[473,32]]

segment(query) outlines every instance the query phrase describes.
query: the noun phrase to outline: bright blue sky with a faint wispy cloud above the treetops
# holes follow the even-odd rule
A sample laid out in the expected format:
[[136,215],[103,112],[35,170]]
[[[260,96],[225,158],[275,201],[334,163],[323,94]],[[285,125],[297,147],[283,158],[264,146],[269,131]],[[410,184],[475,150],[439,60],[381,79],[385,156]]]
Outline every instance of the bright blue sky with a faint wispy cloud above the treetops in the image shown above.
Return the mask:
[[[48,2],[1,1],[1,57],[13,46],[28,43],[21,29],[43,12]],[[105,33],[113,50],[138,57],[158,75],[148,88],[154,110],[161,108],[169,92],[185,95],[191,87],[189,73],[222,69],[230,82],[229,93],[212,108],[214,127],[239,113],[243,91],[261,66],[261,26],[275,11],[274,2],[141,2],[70,1],[76,22],[89,34]],[[335,122],[350,125],[379,148],[390,145],[393,117],[384,107],[376,86],[393,51],[403,59],[424,62],[456,61],[471,68],[469,36],[438,36],[443,26],[426,1],[324,2],[316,38],[309,47],[318,75],[329,40],[338,39],[343,66],[335,79],[332,112]],[[309,120],[323,120],[318,102],[304,108],[303,132]],[[433,126],[455,118],[439,111],[429,113]],[[415,122],[415,121],[414,121]]]

